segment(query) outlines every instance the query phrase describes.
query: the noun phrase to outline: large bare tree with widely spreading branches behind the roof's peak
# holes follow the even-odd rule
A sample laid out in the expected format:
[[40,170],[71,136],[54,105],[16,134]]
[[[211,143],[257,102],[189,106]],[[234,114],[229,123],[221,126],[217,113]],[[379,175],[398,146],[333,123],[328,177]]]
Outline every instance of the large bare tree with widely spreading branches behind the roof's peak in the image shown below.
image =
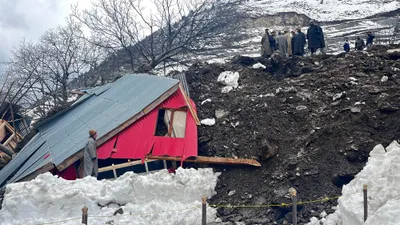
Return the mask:
[[96,0],[72,15],[91,30],[94,44],[118,55],[132,71],[218,45],[239,19],[237,3],[213,0]]

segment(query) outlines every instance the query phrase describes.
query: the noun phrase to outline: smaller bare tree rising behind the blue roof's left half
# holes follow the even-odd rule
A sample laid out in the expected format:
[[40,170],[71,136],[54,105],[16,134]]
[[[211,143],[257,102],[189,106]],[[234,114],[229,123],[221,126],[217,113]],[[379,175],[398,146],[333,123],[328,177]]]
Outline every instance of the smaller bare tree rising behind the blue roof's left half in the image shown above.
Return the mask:
[[80,24],[69,20],[67,26],[47,31],[40,40],[39,59],[47,84],[60,94],[58,102],[68,101],[68,83],[90,69],[96,61],[92,46],[82,38]]

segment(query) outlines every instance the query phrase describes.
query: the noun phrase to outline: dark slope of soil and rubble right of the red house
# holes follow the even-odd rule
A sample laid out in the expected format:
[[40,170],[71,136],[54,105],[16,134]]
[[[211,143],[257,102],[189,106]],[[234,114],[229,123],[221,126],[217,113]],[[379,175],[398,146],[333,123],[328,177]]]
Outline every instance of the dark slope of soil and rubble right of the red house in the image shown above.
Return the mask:
[[[214,126],[199,127],[199,154],[262,162],[260,168],[215,167],[223,173],[210,202],[289,203],[290,187],[300,200],[340,195],[375,145],[400,137],[399,54],[375,47],[369,53],[193,65],[186,75],[199,117],[226,114]],[[257,61],[267,68],[253,69]],[[223,94],[217,77],[228,70],[240,73],[239,88]],[[300,207],[300,224],[334,205]],[[219,216],[245,224],[291,222],[290,210],[281,207],[220,209]]]

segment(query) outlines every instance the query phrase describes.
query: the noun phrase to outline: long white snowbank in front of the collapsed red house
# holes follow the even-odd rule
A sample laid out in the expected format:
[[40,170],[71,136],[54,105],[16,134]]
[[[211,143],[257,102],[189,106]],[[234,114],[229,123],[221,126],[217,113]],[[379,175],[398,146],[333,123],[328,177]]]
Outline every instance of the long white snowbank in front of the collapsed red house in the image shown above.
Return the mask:
[[[128,172],[116,180],[101,181],[93,177],[67,181],[46,173],[30,182],[7,185],[1,224],[75,219],[62,224],[77,225],[84,206],[89,209],[89,224],[201,224],[201,198],[216,194],[218,176],[210,168],[178,168],[176,174]],[[118,208],[123,214],[113,216]],[[214,222],[215,214],[215,209],[208,208],[207,220]]]

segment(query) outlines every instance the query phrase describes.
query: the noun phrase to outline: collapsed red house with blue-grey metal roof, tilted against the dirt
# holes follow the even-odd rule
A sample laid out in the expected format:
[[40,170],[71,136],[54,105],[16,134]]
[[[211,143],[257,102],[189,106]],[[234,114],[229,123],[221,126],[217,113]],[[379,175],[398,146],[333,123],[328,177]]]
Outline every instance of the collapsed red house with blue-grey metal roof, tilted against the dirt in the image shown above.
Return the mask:
[[70,108],[38,123],[37,134],[0,171],[0,186],[48,171],[65,179],[81,177],[89,129],[99,134],[100,160],[124,159],[127,166],[134,164],[130,160],[156,159],[249,164],[241,159],[198,157],[199,124],[195,104],[179,80],[126,75],[86,90]]

